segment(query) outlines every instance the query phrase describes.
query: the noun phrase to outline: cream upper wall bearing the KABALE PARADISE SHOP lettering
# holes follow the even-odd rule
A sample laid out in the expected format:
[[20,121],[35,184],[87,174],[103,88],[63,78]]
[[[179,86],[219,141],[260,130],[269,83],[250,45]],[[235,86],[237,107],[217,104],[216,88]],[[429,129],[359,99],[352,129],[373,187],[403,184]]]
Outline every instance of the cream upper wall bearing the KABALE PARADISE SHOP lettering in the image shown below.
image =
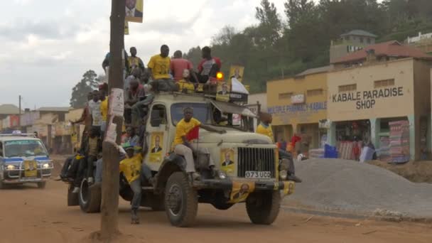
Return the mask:
[[[380,90],[374,88],[374,81],[394,79],[394,86],[401,94],[394,97],[365,97],[365,92]],[[357,84],[357,90],[339,92],[340,85]],[[360,94],[357,96],[357,92]],[[350,101],[338,102],[338,95],[351,95]],[[335,97],[336,95],[336,97]],[[335,102],[336,99],[336,102]],[[357,107],[357,102],[370,106]],[[372,106],[371,104],[374,103]],[[359,109],[357,109],[359,108]],[[328,119],[330,121],[352,121],[381,117],[406,117],[414,114],[414,60],[412,58],[375,63],[328,73]]]

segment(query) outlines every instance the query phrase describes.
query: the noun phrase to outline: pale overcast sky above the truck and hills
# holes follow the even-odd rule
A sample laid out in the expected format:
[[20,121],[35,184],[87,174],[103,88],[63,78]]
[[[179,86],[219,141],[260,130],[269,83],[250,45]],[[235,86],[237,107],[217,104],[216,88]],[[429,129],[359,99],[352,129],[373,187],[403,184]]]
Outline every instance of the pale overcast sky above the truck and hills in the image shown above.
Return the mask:
[[[257,23],[260,0],[144,0],[144,23],[129,23],[126,50],[146,64],[162,43],[171,50],[210,44],[223,26]],[[272,0],[281,16],[285,0]],[[109,0],[1,0],[0,104],[68,106],[86,70],[102,73],[109,50]]]

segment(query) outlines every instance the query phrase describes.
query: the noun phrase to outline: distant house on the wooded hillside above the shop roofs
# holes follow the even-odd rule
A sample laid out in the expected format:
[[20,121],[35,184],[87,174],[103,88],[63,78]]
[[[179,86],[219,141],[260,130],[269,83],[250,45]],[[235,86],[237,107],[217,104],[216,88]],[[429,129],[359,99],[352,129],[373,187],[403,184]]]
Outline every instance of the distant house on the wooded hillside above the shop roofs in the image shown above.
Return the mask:
[[330,44],[330,63],[348,53],[362,50],[367,45],[374,45],[377,36],[362,30],[354,30],[340,35],[336,41]]

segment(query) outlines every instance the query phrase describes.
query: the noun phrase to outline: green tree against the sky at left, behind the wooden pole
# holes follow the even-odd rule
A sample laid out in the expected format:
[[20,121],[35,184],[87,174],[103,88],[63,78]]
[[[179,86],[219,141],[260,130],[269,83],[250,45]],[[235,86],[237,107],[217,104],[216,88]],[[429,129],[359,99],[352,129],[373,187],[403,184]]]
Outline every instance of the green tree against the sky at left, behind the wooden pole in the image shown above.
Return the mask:
[[[100,77],[100,76],[99,76]],[[70,106],[73,108],[82,108],[87,102],[88,93],[97,90],[99,85],[97,74],[93,70],[88,70],[82,75],[82,80],[72,88],[72,97],[70,98]]]

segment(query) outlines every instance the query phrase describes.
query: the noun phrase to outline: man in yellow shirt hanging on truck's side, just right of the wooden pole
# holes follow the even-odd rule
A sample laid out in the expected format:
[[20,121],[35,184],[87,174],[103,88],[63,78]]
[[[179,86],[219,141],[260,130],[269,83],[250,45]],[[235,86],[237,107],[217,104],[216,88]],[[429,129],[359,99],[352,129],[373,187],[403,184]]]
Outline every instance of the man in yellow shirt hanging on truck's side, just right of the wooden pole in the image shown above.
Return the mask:
[[134,146],[129,143],[124,145],[126,158],[120,161],[120,172],[123,173],[131,190],[134,192],[134,198],[131,201],[131,224],[138,225],[139,217],[137,211],[141,205],[141,153],[134,155]]

